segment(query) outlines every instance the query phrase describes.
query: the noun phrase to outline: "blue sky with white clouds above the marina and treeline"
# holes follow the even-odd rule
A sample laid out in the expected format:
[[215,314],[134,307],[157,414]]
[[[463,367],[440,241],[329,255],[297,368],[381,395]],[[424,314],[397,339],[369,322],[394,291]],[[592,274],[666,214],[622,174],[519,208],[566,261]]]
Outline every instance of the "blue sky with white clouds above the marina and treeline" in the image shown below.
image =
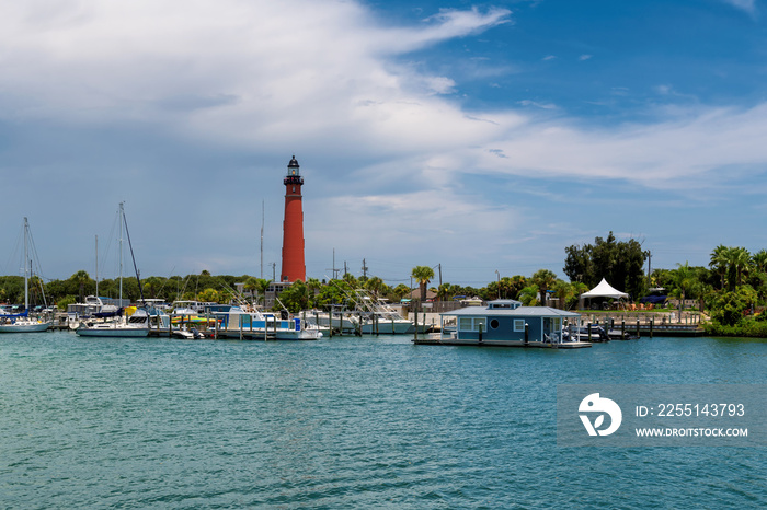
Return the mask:
[[[767,4],[0,0],[0,225],[94,274],[264,276],[305,176],[308,276],[483,286],[614,231],[653,267],[767,247]],[[13,251],[7,236],[5,252]],[[0,254],[0,263],[5,257]],[[101,262],[102,276],[113,277]],[[5,263],[3,274],[19,274]],[[113,265],[114,266],[114,265]]]

